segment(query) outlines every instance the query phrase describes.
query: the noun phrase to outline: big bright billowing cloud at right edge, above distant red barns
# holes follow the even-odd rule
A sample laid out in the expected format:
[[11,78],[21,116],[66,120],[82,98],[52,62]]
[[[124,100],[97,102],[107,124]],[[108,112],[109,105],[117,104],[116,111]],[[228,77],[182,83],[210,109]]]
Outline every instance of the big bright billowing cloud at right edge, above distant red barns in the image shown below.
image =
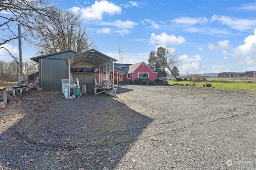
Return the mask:
[[244,64],[256,64],[256,29],[254,30],[254,35],[249,35],[244,39],[244,44],[232,49],[232,53],[223,51],[224,59],[230,58],[243,58]]

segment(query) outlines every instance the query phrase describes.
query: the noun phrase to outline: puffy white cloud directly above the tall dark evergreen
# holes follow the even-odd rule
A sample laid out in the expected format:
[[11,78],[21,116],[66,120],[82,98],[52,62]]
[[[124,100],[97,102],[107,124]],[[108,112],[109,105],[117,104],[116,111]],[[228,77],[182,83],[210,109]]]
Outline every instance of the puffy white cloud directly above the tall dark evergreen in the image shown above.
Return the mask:
[[162,32],[160,35],[156,35],[155,33],[151,34],[150,44],[158,44],[160,46],[164,45],[174,45],[174,44],[182,44],[186,42],[184,37],[175,35],[167,35],[167,33]]

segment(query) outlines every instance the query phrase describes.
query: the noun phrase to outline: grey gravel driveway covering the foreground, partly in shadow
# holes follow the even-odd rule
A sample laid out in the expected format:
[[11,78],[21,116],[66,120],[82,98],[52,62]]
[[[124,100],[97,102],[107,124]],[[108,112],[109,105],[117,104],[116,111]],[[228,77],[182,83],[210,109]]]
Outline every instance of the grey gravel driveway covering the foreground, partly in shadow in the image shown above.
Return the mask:
[[0,109],[0,170],[256,169],[256,91],[117,88],[11,96]]

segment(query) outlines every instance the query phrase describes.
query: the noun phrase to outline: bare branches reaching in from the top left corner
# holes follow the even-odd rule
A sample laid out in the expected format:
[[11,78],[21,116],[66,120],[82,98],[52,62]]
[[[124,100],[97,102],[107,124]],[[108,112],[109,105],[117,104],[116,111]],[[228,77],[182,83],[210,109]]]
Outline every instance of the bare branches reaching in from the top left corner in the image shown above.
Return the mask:
[[5,44],[18,39],[16,31],[20,24],[25,33],[22,39],[30,41],[28,34],[34,29],[34,21],[37,16],[47,16],[48,10],[53,8],[49,0],[0,0],[0,49],[5,49],[18,63],[12,52]]

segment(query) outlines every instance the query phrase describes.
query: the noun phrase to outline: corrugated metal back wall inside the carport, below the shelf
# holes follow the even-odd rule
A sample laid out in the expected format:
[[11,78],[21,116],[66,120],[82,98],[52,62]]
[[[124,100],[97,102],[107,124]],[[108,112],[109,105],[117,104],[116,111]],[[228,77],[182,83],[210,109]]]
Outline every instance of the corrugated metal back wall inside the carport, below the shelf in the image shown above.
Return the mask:
[[[79,82],[81,81],[82,84],[86,85],[86,87],[94,85],[94,79],[97,78],[97,73],[72,73],[73,80],[78,78]],[[82,85],[80,84],[80,85]]]

